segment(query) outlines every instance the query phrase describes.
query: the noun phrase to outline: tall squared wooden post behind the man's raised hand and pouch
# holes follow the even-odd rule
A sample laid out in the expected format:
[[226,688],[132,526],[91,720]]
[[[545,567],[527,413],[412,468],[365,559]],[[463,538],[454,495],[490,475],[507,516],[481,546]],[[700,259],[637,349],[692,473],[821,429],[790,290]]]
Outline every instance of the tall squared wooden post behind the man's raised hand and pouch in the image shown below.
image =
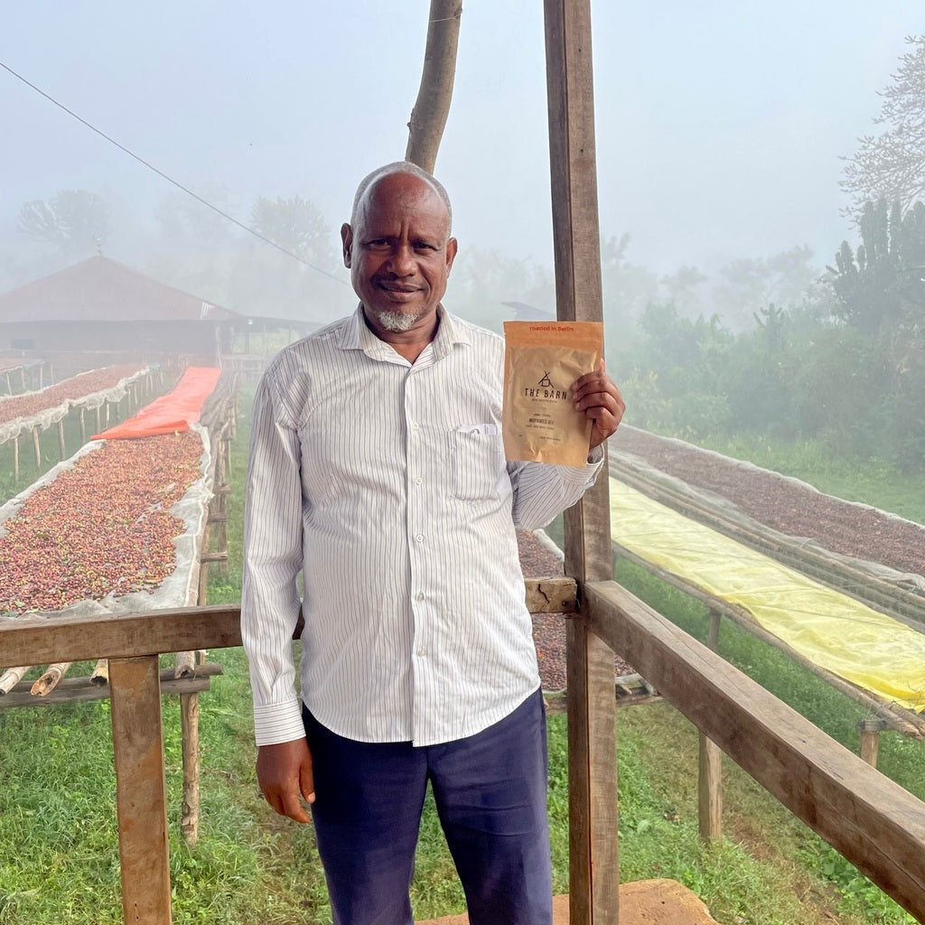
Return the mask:
[[[589,0],[545,0],[545,19],[557,314],[561,320],[600,321]],[[579,588],[612,577],[606,478],[598,478],[585,499],[565,512],[565,573]],[[588,631],[582,611],[568,623],[566,651],[570,921],[616,925],[620,874],[613,652]]]

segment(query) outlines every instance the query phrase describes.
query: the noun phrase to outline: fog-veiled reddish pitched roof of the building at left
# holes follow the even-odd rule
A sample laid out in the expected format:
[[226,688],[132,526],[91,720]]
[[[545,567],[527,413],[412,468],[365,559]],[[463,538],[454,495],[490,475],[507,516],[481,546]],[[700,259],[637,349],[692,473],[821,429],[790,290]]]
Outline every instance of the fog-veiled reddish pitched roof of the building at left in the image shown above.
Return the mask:
[[221,321],[240,314],[97,256],[0,295],[14,321]]

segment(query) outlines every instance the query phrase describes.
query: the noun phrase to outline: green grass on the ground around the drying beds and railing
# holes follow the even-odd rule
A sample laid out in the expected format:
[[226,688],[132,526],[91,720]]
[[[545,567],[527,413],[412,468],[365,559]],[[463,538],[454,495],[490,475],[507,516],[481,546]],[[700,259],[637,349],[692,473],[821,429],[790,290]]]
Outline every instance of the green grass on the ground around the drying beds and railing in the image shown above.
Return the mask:
[[[213,603],[240,599],[246,402],[242,412],[229,499],[229,567],[227,574],[211,568]],[[818,479],[808,480],[820,484]],[[858,490],[873,491],[863,484]],[[872,494],[861,499],[882,505],[879,499],[887,497],[888,490],[902,497],[911,487],[888,474],[880,490],[877,499]],[[685,630],[704,638],[707,616],[697,602],[625,563],[619,566],[618,579]],[[723,625],[721,650],[826,732],[857,747],[857,720],[863,711],[853,701],[728,623]],[[279,819],[257,791],[244,655],[240,649],[226,649],[210,653],[210,660],[220,661],[225,673],[200,697],[202,808],[200,840],[192,849],[179,838],[179,708],[170,697],[163,707],[174,921],[330,922],[311,827]],[[82,673],[87,668],[82,666]],[[701,845],[697,734],[666,704],[621,710],[618,734],[624,881],[670,877],[683,882],[704,899],[722,925],[822,925],[832,922],[829,913],[838,915],[843,925],[911,920],[903,919],[879,891],[859,880],[731,762],[724,762],[727,839],[715,847]],[[881,768],[912,793],[925,796],[921,749],[896,734],[884,734]],[[549,819],[557,892],[568,888],[566,765],[565,718],[552,714]],[[418,918],[463,908],[462,890],[429,798],[416,858],[413,906]],[[121,921],[115,779],[105,701],[0,709],[0,925],[62,921]]]

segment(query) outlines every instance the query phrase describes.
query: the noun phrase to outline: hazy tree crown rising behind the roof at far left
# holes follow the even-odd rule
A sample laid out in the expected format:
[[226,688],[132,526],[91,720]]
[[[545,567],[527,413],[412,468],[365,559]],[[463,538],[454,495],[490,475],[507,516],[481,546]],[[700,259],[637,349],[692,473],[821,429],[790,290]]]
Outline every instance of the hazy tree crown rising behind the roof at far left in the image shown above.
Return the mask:
[[60,190],[47,202],[23,205],[17,227],[32,240],[54,244],[66,257],[86,256],[109,237],[110,209],[98,193]]

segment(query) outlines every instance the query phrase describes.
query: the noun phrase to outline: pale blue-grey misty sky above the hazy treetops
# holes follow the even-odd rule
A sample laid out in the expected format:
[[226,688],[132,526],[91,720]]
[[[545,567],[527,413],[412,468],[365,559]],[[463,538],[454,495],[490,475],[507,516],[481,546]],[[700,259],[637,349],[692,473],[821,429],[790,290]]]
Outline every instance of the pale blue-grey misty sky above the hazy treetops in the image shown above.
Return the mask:
[[[426,0],[29,0],[2,5],[0,61],[242,220],[258,195],[317,203],[401,158]],[[915,0],[705,0],[594,7],[601,233],[659,272],[850,228],[840,154],[870,131]],[[471,0],[437,173],[461,247],[551,265],[542,3]],[[170,187],[0,70],[0,221],[60,189],[148,214]],[[117,241],[106,253],[118,256]]]

